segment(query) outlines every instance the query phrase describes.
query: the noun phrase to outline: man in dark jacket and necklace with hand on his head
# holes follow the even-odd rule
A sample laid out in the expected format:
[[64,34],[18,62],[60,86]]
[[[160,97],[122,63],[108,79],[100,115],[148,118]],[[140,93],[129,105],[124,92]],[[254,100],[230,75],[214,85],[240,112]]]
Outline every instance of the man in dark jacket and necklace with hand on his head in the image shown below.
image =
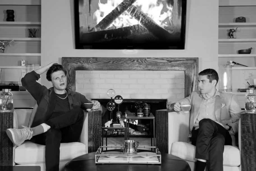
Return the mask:
[[[46,78],[53,86],[49,89],[36,82],[46,71]],[[84,95],[67,89],[66,74],[57,62],[27,73],[21,79],[22,86],[38,104],[33,123],[31,128],[23,126],[24,129],[6,130],[17,146],[26,140],[45,145],[46,171],[59,170],[61,143],[78,141],[84,122],[83,110],[86,110],[83,104],[94,103],[93,110],[101,110],[102,114],[106,111],[98,101],[89,101]]]

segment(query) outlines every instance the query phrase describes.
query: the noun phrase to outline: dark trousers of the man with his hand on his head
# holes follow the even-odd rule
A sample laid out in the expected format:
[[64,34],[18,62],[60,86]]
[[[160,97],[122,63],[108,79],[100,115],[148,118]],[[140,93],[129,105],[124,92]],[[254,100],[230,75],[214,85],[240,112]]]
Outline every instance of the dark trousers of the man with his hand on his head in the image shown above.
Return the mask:
[[82,132],[84,111],[75,108],[69,112],[52,116],[45,124],[51,128],[32,137],[32,141],[45,145],[46,171],[59,171],[59,153],[61,143],[77,142]]

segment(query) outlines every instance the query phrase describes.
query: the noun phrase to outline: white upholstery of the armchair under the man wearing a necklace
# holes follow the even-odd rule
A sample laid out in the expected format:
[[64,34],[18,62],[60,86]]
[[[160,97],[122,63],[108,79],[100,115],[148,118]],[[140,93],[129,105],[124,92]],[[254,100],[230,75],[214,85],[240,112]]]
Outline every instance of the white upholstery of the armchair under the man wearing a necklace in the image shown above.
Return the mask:
[[[14,110],[13,128],[22,129],[21,125],[28,126],[32,109]],[[88,151],[88,118],[84,112],[84,126],[79,142],[61,143],[59,170],[64,170],[64,166],[70,160]],[[32,114],[33,115],[33,114]],[[13,146],[13,165],[15,166],[40,166],[41,171],[45,171],[45,146],[32,142],[24,142],[19,147]]]

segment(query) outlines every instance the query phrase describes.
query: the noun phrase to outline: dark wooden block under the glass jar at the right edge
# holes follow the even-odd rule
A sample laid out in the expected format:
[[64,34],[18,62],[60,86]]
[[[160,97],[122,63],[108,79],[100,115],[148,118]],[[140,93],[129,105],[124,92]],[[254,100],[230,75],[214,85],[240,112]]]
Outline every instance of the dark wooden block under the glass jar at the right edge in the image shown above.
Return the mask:
[[241,114],[242,171],[256,170],[256,114]]

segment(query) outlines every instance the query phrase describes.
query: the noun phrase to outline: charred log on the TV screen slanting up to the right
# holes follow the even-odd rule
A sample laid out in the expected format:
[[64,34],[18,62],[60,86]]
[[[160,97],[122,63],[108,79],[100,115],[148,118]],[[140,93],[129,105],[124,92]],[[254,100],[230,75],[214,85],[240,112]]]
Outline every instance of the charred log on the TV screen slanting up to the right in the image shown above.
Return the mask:
[[116,20],[117,17],[119,17],[124,11],[126,11],[130,6],[132,6],[133,3],[135,3],[137,0],[124,0],[122,3],[120,3],[114,10],[112,10],[105,18],[103,18],[95,27],[93,27],[89,32],[91,31],[98,31],[98,30],[105,30],[107,27],[109,27],[110,24]]

